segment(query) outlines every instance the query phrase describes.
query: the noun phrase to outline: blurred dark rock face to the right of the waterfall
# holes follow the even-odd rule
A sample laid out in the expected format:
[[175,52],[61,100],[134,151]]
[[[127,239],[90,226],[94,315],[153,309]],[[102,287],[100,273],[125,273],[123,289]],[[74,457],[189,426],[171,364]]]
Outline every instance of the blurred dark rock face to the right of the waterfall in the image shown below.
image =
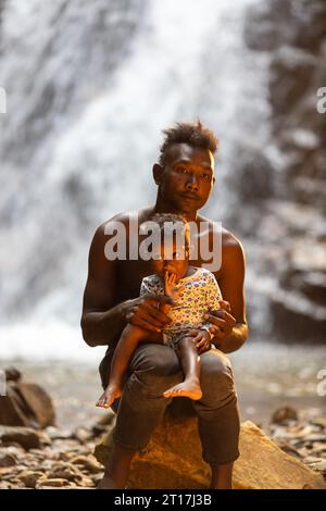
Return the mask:
[[279,340],[324,342],[326,112],[317,91],[326,86],[326,2],[256,2],[244,38],[254,59],[266,58],[269,105],[266,161],[260,154],[247,161],[241,152],[243,208],[233,222],[253,270],[251,334],[266,336],[267,323]]

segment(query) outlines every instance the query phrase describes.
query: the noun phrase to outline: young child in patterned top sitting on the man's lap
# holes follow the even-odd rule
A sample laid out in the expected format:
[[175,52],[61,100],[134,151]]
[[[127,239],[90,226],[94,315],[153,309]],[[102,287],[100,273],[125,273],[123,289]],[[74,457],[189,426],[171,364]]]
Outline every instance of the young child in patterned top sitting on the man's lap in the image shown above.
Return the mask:
[[[222,295],[214,275],[203,267],[190,266],[189,225],[183,216],[170,213],[156,213],[151,219],[160,227],[161,253],[152,260],[153,275],[141,282],[140,296],[165,295],[176,302],[175,306],[160,304],[160,311],[170,316],[172,322],[162,329],[164,344],[175,349],[184,371],[183,383],[165,390],[164,397],[185,396],[193,400],[201,399],[200,359],[198,349],[211,341],[211,324],[204,321],[210,310],[220,309]],[[166,237],[171,229],[173,236]],[[183,245],[174,234],[179,230]],[[190,331],[196,335],[189,336]],[[98,407],[109,408],[122,395],[122,382],[129,360],[139,342],[152,341],[153,333],[133,324],[124,328],[115,348],[111,365],[110,382],[97,402]],[[160,341],[160,337],[156,339]]]

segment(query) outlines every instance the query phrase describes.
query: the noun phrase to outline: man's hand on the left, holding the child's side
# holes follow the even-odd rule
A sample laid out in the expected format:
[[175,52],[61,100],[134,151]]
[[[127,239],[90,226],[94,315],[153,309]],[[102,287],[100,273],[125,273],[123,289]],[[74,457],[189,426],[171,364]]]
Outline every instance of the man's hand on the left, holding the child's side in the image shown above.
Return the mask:
[[147,295],[134,300],[127,300],[123,307],[124,317],[128,323],[140,326],[146,331],[161,332],[171,323],[171,319],[159,310],[160,303],[174,306],[171,297],[163,295]]

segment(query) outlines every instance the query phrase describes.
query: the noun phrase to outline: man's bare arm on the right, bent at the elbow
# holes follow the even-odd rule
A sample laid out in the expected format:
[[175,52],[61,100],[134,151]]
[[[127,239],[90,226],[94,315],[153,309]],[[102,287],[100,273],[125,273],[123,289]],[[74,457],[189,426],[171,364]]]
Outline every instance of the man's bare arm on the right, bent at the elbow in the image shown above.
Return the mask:
[[243,291],[246,258],[235,236],[227,233],[224,237],[218,285],[223,300],[229,303],[230,309],[224,304],[223,310],[210,314],[208,319],[218,327],[214,332],[213,342],[221,351],[230,353],[246,342],[249,332]]

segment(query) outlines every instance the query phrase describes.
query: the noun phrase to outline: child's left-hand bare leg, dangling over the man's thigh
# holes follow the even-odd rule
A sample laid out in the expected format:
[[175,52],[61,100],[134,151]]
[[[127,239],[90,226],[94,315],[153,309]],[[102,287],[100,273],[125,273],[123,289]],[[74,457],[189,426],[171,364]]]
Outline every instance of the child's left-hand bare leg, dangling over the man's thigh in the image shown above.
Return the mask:
[[97,402],[97,407],[109,408],[122,395],[123,377],[127,371],[130,358],[141,340],[153,340],[153,334],[135,326],[127,324],[123,329],[118,344],[114,350],[114,356],[111,362],[110,382],[104,392]]

